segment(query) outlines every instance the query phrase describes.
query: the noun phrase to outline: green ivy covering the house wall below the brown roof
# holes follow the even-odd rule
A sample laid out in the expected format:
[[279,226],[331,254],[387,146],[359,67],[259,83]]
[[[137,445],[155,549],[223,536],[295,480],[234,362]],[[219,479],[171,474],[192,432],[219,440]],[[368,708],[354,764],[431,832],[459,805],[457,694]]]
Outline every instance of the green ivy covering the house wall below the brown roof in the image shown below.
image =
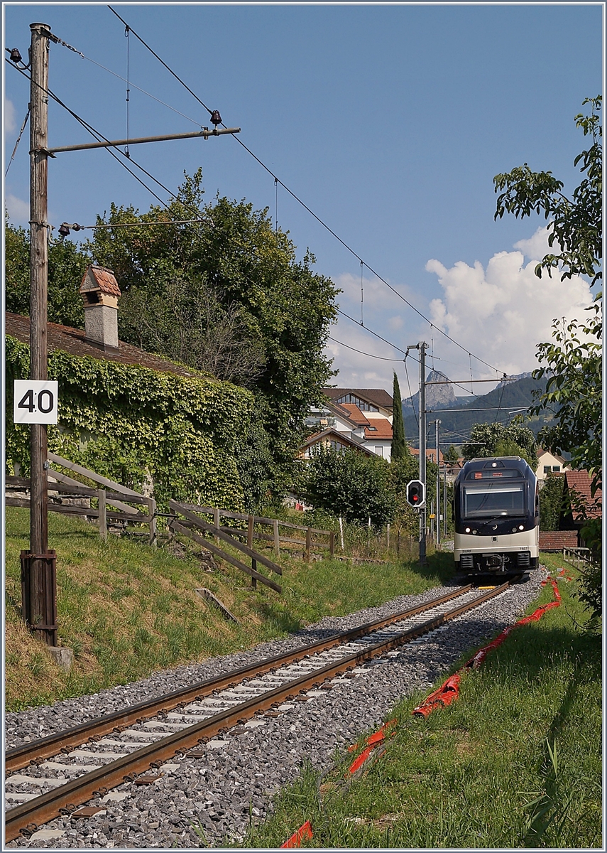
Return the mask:
[[[29,375],[29,347],[6,337],[7,473],[29,475],[29,427],[13,423],[13,380]],[[186,378],[55,350],[59,423],[49,450],[141,490],[159,507],[175,498],[241,511],[246,505],[235,450],[251,429],[254,397],[204,375]]]

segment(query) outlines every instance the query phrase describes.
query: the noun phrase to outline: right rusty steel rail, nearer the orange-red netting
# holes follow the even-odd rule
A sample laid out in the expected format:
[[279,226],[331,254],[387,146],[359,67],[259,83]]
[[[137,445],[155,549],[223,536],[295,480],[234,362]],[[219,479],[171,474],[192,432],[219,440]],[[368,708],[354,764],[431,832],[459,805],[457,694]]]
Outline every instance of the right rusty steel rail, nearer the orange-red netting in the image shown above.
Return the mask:
[[170,734],[163,740],[149,746],[143,746],[111,764],[106,764],[104,767],[42,794],[40,797],[9,809],[6,812],[4,824],[6,842],[14,840],[21,833],[34,832],[38,825],[48,823],[62,813],[70,814],[78,805],[87,802],[91,797],[103,795],[111,788],[123,784],[124,781],[135,780],[139,773],[159,767],[178,752],[187,751],[194,746],[204,744],[213,735],[223,734],[231,726],[239,722],[246,722],[257,712],[268,711],[277,703],[292,698],[295,693],[318,686],[327,678],[337,676],[345,670],[351,670],[357,664],[362,664],[379,654],[389,652],[390,649],[413,640],[415,637],[435,630],[456,616],[460,616],[461,613],[483,604],[485,601],[494,598],[495,595],[500,595],[509,585],[507,582],[502,583],[499,587],[478,596],[473,601],[468,601],[446,613],[438,614],[422,624],[415,625],[396,636],[390,637],[390,639],[347,655],[343,659],[327,664],[320,670],[314,670],[294,679],[292,682],[269,690],[261,696],[247,699],[234,708],[220,711],[204,722],[196,723],[187,729]]

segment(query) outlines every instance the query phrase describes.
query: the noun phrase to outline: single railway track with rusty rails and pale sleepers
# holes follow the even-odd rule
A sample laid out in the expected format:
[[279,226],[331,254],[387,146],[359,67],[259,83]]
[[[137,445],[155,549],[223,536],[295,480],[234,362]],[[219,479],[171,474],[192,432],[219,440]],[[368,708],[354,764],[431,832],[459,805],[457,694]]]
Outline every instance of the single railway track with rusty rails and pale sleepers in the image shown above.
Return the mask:
[[[177,754],[193,749],[204,754],[217,734],[255,725],[252,717],[272,713],[298,693],[328,686],[335,676],[440,628],[508,586],[482,594],[471,585],[460,587],[389,618],[7,751],[5,799],[19,804],[6,812],[5,841],[72,814],[124,781],[153,781]],[[150,770],[153,775],[137,778]]]

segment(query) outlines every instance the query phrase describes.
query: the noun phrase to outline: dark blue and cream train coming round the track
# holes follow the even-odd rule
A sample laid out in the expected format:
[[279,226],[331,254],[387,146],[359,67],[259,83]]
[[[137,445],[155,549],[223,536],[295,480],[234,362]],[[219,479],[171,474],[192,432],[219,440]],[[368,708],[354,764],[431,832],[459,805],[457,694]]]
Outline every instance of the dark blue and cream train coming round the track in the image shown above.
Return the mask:
[[520,456],[465,463],[454,483],[455,567],[468,575],[538,568],[539,490]]

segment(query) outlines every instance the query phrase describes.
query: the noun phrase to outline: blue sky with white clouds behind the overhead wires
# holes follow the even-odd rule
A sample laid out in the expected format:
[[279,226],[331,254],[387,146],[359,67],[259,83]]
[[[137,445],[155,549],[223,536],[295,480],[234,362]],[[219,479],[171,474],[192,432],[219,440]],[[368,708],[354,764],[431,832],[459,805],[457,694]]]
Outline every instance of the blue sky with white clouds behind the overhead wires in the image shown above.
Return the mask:
[[[364,320],[401,346],[425,339],[451,378],[470,376],[467,352],[500,370],[535,367],[535,344],[552,318],[581,316],[584,281],[537,281],[543,219],[494,222],[493,177],[528,162],[576,185],[583,147],[574,116],[602,91],[603,5],[228,5],[119,4],[115,9],[269,168],[366,264],[431,317],[420,320],[366,268]],[[124,25],[102,4],[4,4],[4,46],[26,56],[29,25],[48,23],[50,88],[108,138],[126,136]],[[130,134],[180,133],[208,113],[130,36]],[[5,166],[29,99],[28,83],[4,68]],[[89,142],[61,107],[49,108],[50,144]],[[28,217],[27,132],[5,180],[11,220]],[[170,189],[202,165],[207,198],[217,192],[269,206],[272,177],[234,140],[164,142],[131,149]],[[147,180],[147,178],[144,178]],[[148,182],[149,183],[149,182]],[[153,185],[154,186],[154,185]],[[154,186],[161,198],[164,190]],[[58,154],[49,165],[49,220],[90,224],[117,204],[155,203],[106,151]],[[344,293],[360,320],[361,267],[284,189],[278,221],[301,256]],[[516,244],[516,245],[515,245]],[[392,369],[348,350],[402,357],[341,318],[329,351],[339,386],[390,389]],[[335,343],[340,341],[340,344]],[[439,360],[440,359],[440,360]],[[494,374],[472,359],[475,378]],[[411,375],[415,373],[409,370]],[[456,375],[457,374],[457,375]],[[484,386],[480,386],[484,387]],[[487,386],[487,390],[490,386]]]

